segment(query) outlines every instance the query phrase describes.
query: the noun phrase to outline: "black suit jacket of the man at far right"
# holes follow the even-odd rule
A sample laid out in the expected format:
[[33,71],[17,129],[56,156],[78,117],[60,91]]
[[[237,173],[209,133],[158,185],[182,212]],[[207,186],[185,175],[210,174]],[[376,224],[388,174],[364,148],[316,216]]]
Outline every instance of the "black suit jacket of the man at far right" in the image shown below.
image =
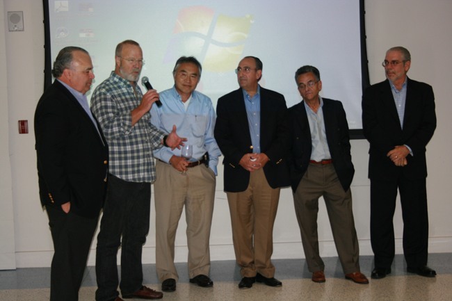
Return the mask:
[[[426,83],[407,79],[407,95],[403,129],[389,81],[367,88],[362,97],[362,127],[370,143],[369,178],[407,179],[427,177],[426,145],[436,128],[435,97]],[[408,164],[397,167],[386,156],[396,145],[408,145],[413,156]]]

